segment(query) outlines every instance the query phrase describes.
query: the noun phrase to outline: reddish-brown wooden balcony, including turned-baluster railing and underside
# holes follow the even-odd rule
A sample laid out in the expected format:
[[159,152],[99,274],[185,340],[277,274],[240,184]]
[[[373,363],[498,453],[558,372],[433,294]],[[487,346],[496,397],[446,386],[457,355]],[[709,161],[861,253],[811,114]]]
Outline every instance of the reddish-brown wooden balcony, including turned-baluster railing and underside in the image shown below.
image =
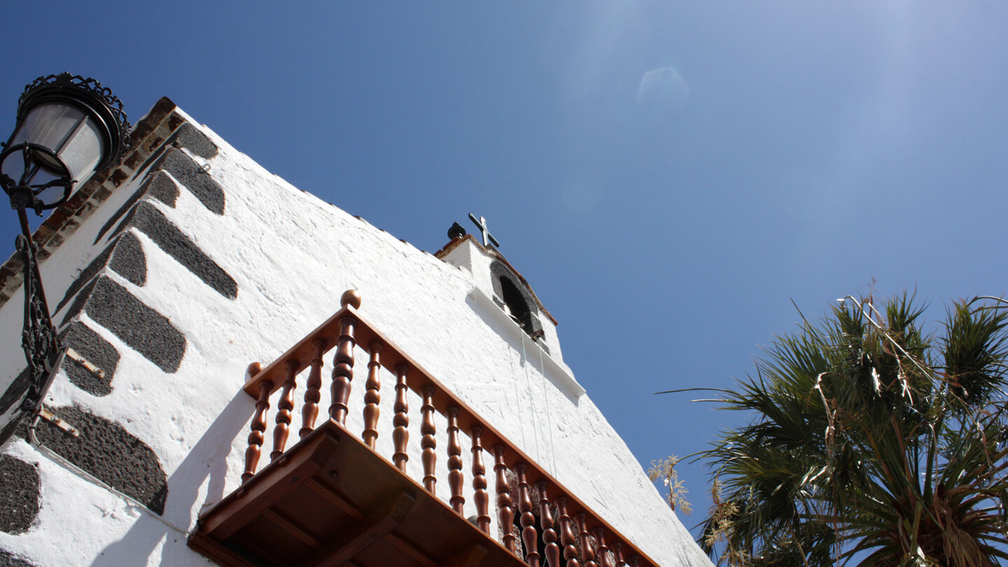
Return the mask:
[[[343,309],[265,368],[250,365],[256,400],[242,485],[201,515],[188,545],[225,566],[653,567],[655,563],[522,453],[357,312]],[[364,430],[346,428],[355,346],[369,356]],[[316,427],[323,358],[334,356],[329,419]],[[383,372],[382,368],[387,370]],[[289,448],[293,391],[307,371],[300,439]],[[381,377],[395,378],[391,459],[376,450]],[[256,471],[270,396],[278,392],[270,462]],[[409,392],[421,402],[422,477],[406,474]],[[435,414],[437,415],[435,419]],[[435,487],[435,423],[448,433],[449,498]],[[465,488],[462,439],[471,446]],[[484,460],[496,482],[494,521]],[[466,502],[475,508],[463,515]]]

